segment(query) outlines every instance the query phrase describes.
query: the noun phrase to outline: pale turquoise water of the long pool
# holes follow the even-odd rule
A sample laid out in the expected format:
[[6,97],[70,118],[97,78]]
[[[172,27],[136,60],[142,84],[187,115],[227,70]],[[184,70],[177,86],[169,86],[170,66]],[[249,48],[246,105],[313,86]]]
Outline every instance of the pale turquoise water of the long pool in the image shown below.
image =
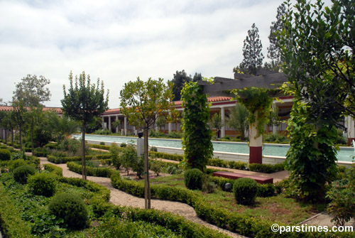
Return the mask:
[[[80,139],[80,134],[72,134],[72,138]],[[116,143],[133,143],[136,144],[136,137],[127,136],[102,136],[102,135],[85,135],[85,139],[89,141],[106,141]],[[230,152],[230,153],[249,153],[249,146],[244,142],[224,142],[213,141],[213,151]],[[163,146],[172,148],[182,148],[179,139],[149,139],[149,146]],[[290,145],[281,144],[264,144],[264,156],[286,156]],[[337,158],[339,161],[353,161],[351,156],[355,156],[354,148],[341,148],[338,151]]]

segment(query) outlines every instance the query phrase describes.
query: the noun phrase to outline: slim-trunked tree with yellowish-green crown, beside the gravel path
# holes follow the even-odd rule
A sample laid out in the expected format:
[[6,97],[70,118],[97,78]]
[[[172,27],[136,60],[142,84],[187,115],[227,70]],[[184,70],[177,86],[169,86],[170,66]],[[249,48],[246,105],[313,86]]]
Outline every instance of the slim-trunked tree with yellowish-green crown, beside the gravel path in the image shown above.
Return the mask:
[[145,207],[151,208],[151,189],[148,171],[148,130],[153,126],[155,117],[160,116],[173,106],[173,85],[163,83],[163,79],[143,82],[139,77],[135,82],[124,84],[120,92],[122,113],[129,119],[129,124],[143,128],[144,134],[144,181]]

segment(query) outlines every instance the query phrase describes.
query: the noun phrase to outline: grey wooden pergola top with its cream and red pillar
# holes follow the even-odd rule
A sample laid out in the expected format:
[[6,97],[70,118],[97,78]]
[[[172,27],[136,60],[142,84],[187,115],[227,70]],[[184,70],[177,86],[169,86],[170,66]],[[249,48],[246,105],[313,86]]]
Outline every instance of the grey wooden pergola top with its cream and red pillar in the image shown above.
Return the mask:
[[[288,77],[283,72],[260,69],[256,71],[256,75],[234,73],[234,79],[214,77],[213,84],[202,80],[197,84],[203,87],[206,94],[224,96],[228,94],[226,90],[242,90],[247,87],[275,89],[283,82],[288,82]],[[252,124],[249,129],[249,163],[263,163],[263,136],[256,137],[256,126],[257,124]]]

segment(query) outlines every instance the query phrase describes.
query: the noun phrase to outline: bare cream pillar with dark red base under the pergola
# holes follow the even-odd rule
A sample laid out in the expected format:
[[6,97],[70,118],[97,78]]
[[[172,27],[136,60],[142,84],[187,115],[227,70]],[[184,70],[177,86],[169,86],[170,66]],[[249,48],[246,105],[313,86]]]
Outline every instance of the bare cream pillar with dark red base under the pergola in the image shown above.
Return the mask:
[[249,163],[263,163],[263,136],[258,135],[258,112],[254,112],[256,118],[249,126]]

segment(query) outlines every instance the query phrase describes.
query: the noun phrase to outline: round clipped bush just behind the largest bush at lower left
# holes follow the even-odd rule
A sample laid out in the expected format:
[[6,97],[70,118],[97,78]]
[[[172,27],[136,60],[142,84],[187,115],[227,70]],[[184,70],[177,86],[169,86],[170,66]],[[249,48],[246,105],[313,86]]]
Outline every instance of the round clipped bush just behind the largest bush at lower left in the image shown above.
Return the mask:
[[57,179],[50,173],[37,173],[28,178],[28,188],[35,195],[50,197],[55,193]]

